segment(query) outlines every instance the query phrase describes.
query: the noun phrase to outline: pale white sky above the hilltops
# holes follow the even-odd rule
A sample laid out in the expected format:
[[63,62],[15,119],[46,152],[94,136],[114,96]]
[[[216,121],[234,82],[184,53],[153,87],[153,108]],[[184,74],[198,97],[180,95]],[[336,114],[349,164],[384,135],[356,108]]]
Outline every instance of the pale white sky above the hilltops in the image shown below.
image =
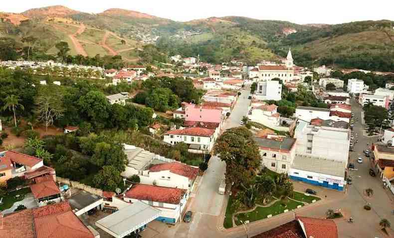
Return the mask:
[[[0,11],[22,12],[30,8],[64,5],[99,13],[123,8],[177,21],[211,16],[246,16],[284,20],[298,24],[337,24],[358,20],[394,20],[394,0],[1,0]],[[366,2],[366,3],[363,3]],[[367,3],[368,2],[368,3]]]

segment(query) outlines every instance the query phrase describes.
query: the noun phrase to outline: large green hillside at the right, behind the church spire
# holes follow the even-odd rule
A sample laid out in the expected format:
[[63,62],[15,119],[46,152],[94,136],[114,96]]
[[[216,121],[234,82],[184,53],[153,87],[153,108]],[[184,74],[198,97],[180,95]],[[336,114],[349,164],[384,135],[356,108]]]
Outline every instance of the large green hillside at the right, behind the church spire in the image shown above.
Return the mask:
[[284,38],[273,48],[285,55],[293,49],[295,63],[394,72],[394,22],[359,21],[313,27]]

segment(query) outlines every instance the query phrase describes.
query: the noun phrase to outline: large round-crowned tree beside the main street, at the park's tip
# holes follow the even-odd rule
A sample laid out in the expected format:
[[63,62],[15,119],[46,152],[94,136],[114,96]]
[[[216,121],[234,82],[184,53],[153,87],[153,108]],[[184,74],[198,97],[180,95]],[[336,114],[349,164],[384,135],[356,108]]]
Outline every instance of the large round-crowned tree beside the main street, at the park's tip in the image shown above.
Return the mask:
[[244,126],[222,133],[216,140],[214,153],[226,162],[226,182],[234,182],[235,187],[250,181],[260,164],[258,146]]

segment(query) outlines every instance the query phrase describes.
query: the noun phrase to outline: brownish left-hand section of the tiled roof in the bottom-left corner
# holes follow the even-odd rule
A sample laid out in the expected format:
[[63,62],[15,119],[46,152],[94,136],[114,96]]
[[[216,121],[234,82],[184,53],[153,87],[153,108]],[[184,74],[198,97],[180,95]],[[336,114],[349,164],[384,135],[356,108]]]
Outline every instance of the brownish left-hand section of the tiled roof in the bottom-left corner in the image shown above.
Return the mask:
[[35,238],[31,209],[0,218],[0,238]]

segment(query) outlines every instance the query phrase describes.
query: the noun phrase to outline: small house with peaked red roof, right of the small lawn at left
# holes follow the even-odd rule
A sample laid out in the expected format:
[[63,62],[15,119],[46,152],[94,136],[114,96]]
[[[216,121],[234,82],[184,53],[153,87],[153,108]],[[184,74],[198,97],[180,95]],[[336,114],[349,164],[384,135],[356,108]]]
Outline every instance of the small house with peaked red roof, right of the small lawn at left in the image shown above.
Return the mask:
[[30,189],[38,206],[45,206],[49,201],[60,202],[60,189],[52,176],[37,177],[33,180],[35,183],[30,184]]

